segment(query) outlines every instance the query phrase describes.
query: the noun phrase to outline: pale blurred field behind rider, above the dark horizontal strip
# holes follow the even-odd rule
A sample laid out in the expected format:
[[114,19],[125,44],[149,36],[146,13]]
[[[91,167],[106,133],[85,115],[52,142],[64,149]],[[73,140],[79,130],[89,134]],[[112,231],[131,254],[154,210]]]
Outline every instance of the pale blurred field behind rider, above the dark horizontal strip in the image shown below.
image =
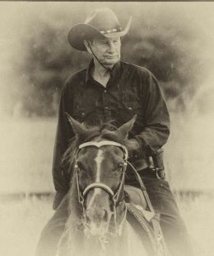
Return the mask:
[[[165,168],[177,190],[212,191],[214,121],[192,111],[174,115]],[[209,126],[205,127],[205,124]],[[0,193],[53,192],[51,175],[57,120],[5,119],[0,134]]]

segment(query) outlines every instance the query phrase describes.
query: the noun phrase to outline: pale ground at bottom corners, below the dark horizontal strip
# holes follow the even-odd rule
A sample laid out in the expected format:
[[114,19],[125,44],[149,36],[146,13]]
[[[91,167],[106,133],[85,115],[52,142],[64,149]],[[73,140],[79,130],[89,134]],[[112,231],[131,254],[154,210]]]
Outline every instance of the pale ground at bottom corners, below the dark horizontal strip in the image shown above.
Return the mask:
[[[0,255],[33,256],[40,230],[52,216],[52,197],[30,197],[0,204]],[[213,197],[177,198],[179,208],[197,251],[196,256],[212,256]]]

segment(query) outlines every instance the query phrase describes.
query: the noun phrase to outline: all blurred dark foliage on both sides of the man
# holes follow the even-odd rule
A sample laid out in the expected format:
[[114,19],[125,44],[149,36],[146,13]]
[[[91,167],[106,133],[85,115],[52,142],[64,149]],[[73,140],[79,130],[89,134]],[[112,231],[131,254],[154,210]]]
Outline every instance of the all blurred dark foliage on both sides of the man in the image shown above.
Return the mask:
[[[198,71],[202,67],[201,55],[197,54],[202,42],[193,26],[185,22],[188,19],[184,14],[176,13],[175,19],[174,12],[165,15],[161,7],[153,12],[147,12],[142,5],[126,8],[126,15],[122,15],[120,7],[115,5],[113,10],[122,22],[129,15],[135,17],[131,31],[123,39],[122,59],[151,70],[174,109],[184,108],[187,95],[198,88]],[[68,11],[64,15],[63,9],[49,19],[36,17],[31,21],[30,33],[22,41],[26,55],[16,67],[27,81],[21,94],[27,116],[55,115],[59,92],[67,76],[87,66],[90,56],[68,45],[67,32],[82,20],[78,14],[86,17],[90,8],[93,7],[82,11],[80,5],[72,9],[72,15]]]

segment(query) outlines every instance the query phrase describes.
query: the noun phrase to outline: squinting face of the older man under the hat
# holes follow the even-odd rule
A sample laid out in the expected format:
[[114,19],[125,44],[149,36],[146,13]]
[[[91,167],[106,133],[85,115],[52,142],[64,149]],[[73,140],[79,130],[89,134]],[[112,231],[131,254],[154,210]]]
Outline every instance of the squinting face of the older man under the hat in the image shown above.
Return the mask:
[[101,64],[112,68],[120,59],[120,38],[94,38],[91,49]]

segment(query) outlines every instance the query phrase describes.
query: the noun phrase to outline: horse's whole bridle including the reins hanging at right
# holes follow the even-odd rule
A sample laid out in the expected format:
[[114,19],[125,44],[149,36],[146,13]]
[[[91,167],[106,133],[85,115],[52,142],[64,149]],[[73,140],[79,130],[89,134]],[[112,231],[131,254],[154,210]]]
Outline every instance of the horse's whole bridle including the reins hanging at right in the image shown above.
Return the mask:
[[[120,179],[120,183],[119,183],[119,188],[117,189],[116,192],[114,192],[111,187],[105,185],[105,183],[91,183],[88,186],[86,186],[83,191],[81,192],[80,186],[79,186],[79,173],[78,173],[78,166],[77,166],[77,158],[78,158],[78,154],[80,152],[81,149],[86,148],[88,146],[95,146],[96,148],[100,148],[102,146],[105,145],[113,145],[116,147],[119,147],[119,149],[121,149],[123,151],[123,160],[124,160],[124,164],[123,164],[123,173],[122,173],[122,177]],[[126,205],[126,203],[124,204],[125,206],[125,211],[124,211],[124,216],[123,216],[123,220],[119,223],[119,225],[117,225],[117,211],[116,211],[116,207],[119,206],[121,203],[123,203],[124,198],[119,198],[120,193],[123,192],[123,186],[124,186],[124,179],[125,179],[125,171],[127,169],[127,166],[129,166],[133,169],[133,172],[135,173],[135,176],[140,184],[142,193],[145,197],[145,200],[147,201],[147,207],[149,209],[149,211],[153,212],[155,214],[155,211],[153,209],[153,206],[151,205],[151,201],[147,195],[147,190],[146,187],[144,187],[144,184],[142,183],[142,179],[140,178],[139,174],[137,173],[136,168],[133,167],[132,164],[130,164],[128,162],[128,150],[126,149],[126,147],[124,145],[121,145],[117,142],[114,141],[109,141],[109,140],[103,140],[100,142],[95,142],[95,141],[89,141],[86,143],[83,143],[81,145],[79,145],[79,148],[77,149],[77,154],[76,154],[76,162],[75,162],[75,171],[76,171],[76,175],[77,175],[77,194],[78,194],[78,200],[81,203],[82,206],[82,212],[83,212],[83,218],[86,224],[86,208],[85,208],[85,200],[86,200],[86,195],[88,192],[90,192],[92,189],[99,187],[101,189],[103,189],[105,192],[107,192],[113,202],[113,216],[114,216],[114,235],[120,235],[121,234],[121,228],[123,226],[123,222],[124,220],[126,220],[126,215],[127,215],[127,211],[128,210],[128,206]],[[84,224],[84,223],[83,223]],[[155,239],[157,239],[157,244],[161,244],[161,249],[164,249],[165,255],[168,255],[168,250],[165,247],[165,241],[163,239],[163,234],[162,234],[162,230],[161,230],[161,226],[159,224],[159,221],[156,220],[156,218],[152,218],[151,219],[151,224],[153,225],[153,229],[155,232]],[[161,242],[160,242],[160,235],[161,235]],[[159,238],[159,240],[158,240]],[[107,241],[108,242],[108,241]],[[105,255],[105,244],[106,244],[106,238],[104,237],[100,237],[100,243],[101,243],[101,255]]]

